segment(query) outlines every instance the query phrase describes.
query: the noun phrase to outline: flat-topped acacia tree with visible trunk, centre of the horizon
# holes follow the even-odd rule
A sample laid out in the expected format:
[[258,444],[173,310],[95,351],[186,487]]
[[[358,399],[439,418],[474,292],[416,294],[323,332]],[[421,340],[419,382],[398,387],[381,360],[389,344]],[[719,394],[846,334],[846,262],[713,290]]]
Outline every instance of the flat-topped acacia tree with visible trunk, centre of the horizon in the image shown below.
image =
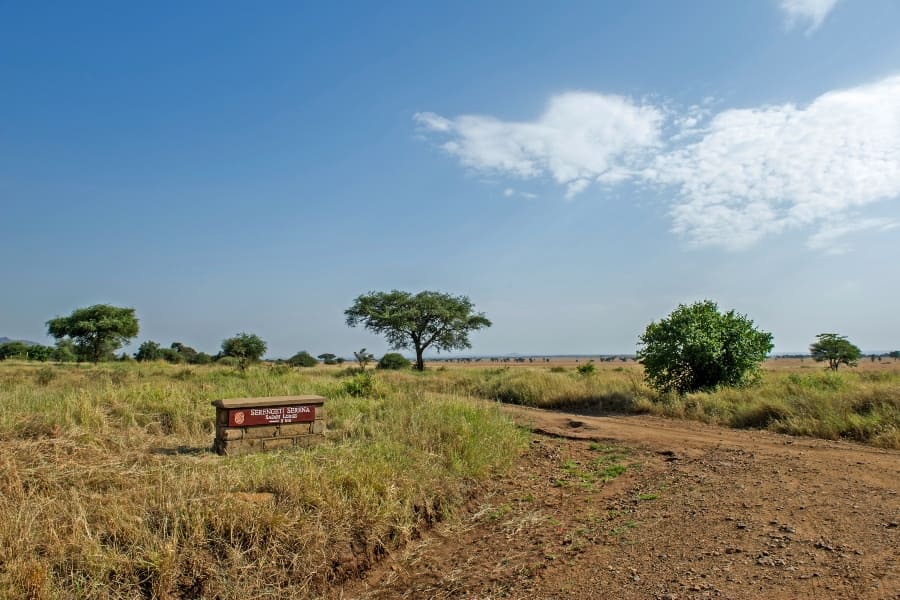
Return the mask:
[[415,351],[419,371],[425,370],[422,354],[426,349],[471,348],[469,333],[491,326],[484,313],[474,312],[468,297],[442,292],[369,292],[359,296],[344,314],[347,325],[363,325],[383,335],[392,349]]

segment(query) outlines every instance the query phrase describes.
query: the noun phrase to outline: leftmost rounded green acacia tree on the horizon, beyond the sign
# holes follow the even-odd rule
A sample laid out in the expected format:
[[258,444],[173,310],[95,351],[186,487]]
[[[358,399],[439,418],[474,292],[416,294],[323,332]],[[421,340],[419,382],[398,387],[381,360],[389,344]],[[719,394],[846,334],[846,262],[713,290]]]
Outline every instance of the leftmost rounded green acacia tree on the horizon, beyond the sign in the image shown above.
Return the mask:
[[95,304],[50,319],[47,332],[57,340],[71,339],[79,358],[100,362],[137,336],[138,320],[133,308]]

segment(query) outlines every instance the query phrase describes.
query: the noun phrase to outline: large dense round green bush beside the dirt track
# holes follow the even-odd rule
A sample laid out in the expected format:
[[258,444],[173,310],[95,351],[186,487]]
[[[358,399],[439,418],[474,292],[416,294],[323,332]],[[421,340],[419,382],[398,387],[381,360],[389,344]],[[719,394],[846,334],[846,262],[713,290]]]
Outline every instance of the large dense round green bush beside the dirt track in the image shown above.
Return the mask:
[[650,385],[679,394],[753,381],[772,350],[772,334],[733,310],[720,313],[715,302],[679,305],[640,338],[637,357]]

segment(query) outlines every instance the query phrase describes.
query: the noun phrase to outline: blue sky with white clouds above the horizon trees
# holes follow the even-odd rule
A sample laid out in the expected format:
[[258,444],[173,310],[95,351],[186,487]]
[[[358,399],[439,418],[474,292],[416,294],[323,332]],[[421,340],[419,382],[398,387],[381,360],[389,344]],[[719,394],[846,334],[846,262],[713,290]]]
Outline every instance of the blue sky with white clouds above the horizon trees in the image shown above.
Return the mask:
[[0,336],[385,342],[464,294],[471,354],[633,353],[711,299],[805,351],[900,347],[900,3],[2,2]]

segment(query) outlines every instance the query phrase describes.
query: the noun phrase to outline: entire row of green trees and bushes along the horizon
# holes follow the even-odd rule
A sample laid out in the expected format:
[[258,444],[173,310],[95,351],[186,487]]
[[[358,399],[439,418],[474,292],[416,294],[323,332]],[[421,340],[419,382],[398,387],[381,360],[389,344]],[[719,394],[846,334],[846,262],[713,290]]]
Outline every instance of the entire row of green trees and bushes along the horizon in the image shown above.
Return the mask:
[[[432,348],[440,351],[470,348],[469,334],[490,327],[483,313],[476,313],[466,296],[452,296],[441,292],[411,294],[369,292],[356,298],[344,311],[347,325],[362,325],[387,338],[395,350],[406,348],[415,352],[412,365],[401,354],[390,352],[377,361],[379,369],[401,369],[412,366],[425,368],[424,352]],[[0,344],[0,360],[9,358],[36,361],[90,361],[115,360],[116,351],[137,337],[138,319],[134,308],[95,304],[78,308],[67,317],[47,321],[47,333],[56,339],[55,346],[43,346],[22,341]],[[238,333],[222,342],[216,355],[200,352],[181,342],[173,342],[168,348],[147,340],[134,353],[134,359],[146,362],[165,360],[170,363],[204,365],[213,362],[230,364],[244,370],[258,362],[266,352],[267,344],[252,333]],[[772,334],[758,330],[753,321],[734,310],[720,312],[718,306],[704,300],[691,305],[679,305],[659,322],[650,323],[639,339],[636,359],[644,366],[648,383],[662,391],[684,394],[718,386],[748,385],[758,378],[759,365],[773,348]],[[856,366],[862,352],[846,336],[837,333],[821,333],[810,345],[814,360],[824,362],[836,371],[840,365]],[[361,371],[375,361],[365,348],[353,353]],[[120,360],[131,360],[122,354]],[[883,358],[900,360],[900,351],[870,354],[874,362]],[[628,361],[631,357],[613,355],[599,360]],[[313,367],[319,361],[326,365],[341,364],[344,359],[332,353],[319,354],[318,358],[306,350],[294,354],[285,361],[292,367]],[[483,358],[448,358],[445,361],[480,362]],[[490,362],[534,363],[550,362],[543,357],[493,357]],[[577,359],[575,362],[579,362]],[[594,371],[593,359],[578,371],[590,375]]]

